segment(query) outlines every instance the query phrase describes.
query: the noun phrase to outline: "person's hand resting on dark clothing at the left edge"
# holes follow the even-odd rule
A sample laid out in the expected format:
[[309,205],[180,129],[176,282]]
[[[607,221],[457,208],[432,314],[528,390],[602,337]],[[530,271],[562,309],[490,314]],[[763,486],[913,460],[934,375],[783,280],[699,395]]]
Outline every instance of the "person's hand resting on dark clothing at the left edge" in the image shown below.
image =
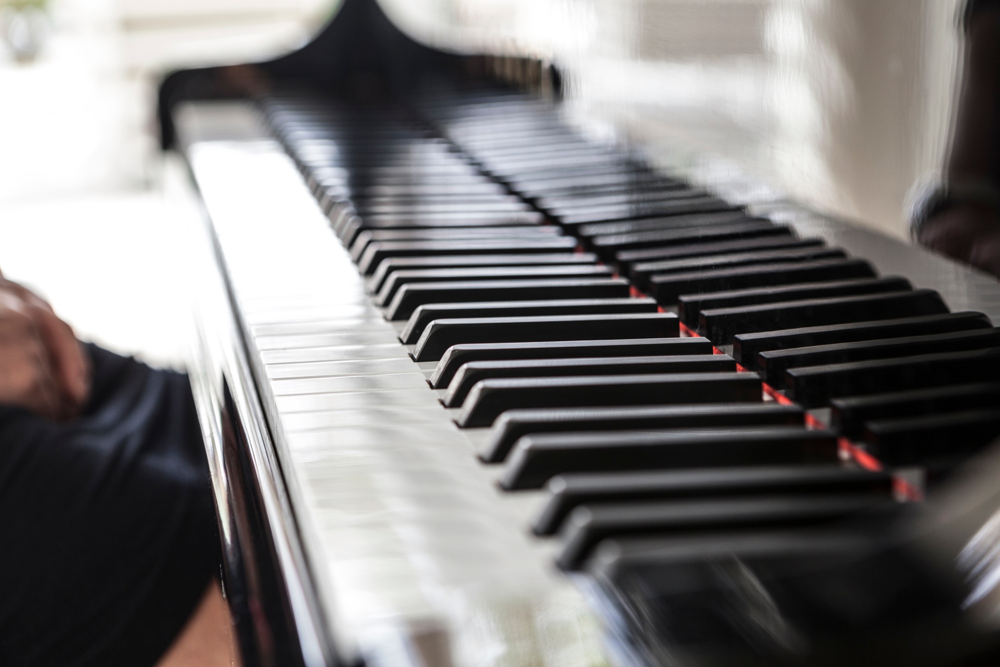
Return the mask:
[[89,394],[90,365],[73,329],[44,300],[0,276],[0,404],[65,420]]

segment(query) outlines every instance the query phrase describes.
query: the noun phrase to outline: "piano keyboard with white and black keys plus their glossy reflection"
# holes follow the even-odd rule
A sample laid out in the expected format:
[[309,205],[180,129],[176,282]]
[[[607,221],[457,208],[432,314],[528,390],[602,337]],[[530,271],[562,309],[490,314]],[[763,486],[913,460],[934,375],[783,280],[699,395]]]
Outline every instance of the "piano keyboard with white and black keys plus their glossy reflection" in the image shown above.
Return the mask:
[[[493,664],[487,640],[509,664],[641,663],[671,544],[815,536],[1000,435],[989,314],[547,103],[260,113],[242,147],[187,150],[321,597],[369,659],[402,636],[414,664]],[[269,178],[308,222],[255,193]]]

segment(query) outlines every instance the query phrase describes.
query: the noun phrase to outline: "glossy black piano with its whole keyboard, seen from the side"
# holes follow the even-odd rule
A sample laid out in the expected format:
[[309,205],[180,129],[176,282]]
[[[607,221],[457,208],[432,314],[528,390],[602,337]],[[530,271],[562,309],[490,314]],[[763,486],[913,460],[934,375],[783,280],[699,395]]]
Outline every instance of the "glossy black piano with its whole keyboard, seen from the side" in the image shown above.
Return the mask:
[[867,574],[923,590],[877,547],[1000,435],[1000,284],[587,138],[563,81],[374,0],[163,81],[212,254],[191,378],[244,663],[989,646],[920,625],[937,590],[859,637],[882,589],[844,582],[877,552]]

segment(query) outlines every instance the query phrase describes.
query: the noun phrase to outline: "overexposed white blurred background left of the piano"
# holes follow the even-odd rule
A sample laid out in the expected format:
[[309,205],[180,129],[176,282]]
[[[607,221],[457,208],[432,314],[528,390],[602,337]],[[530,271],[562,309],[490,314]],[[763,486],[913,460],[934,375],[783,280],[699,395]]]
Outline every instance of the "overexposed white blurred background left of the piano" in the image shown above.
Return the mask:
[[166,196],[158,82],[173,68],[295,48],[333,7],[316,0],[0,0],[0,269],[44,294],[80,338],[183,366],[191,326],[185,263],[197,235]]

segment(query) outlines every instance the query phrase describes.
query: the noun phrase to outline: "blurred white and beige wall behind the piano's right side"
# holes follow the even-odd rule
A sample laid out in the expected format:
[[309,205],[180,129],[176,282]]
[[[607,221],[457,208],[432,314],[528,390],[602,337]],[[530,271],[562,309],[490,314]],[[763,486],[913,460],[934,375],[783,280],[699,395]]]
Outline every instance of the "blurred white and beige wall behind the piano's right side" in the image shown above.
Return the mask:
[[[904,236],[940,165],[960,0],[388,0],[427,39],[554,58],[581,115],[736,159]],[[655,151],[654,151],[655,152]]]

